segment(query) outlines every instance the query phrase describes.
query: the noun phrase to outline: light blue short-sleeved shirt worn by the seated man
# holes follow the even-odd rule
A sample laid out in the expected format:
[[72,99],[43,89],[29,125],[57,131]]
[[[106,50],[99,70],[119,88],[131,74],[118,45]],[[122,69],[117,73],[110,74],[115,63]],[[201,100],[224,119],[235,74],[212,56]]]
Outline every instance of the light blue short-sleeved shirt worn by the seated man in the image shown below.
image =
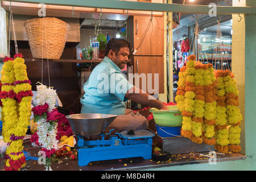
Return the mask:
[[125,94],[133,86],[121,69],[105,56],[84,84],[81,113],[125,114]]

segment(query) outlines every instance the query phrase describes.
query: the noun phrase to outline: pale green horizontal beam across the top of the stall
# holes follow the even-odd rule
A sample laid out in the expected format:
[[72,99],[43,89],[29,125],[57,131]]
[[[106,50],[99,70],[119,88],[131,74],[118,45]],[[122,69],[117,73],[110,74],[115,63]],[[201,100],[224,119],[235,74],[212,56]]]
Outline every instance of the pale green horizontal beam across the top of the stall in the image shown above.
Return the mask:
[[[163,11],[174,13],[189,14],[208,14],[213,7],[207,5],[181,5],[166,3],[147,3],[134,1],[116,1],[116,0],[12,0],[11,2],[26,3],[45,3],[46,5],[63,5],[79,7],[96,7],[102,9],[119,9],[119,10],[141,10],[141,11]],[[256,7],[232,7],[216,6],[217,14],[256,14]]]

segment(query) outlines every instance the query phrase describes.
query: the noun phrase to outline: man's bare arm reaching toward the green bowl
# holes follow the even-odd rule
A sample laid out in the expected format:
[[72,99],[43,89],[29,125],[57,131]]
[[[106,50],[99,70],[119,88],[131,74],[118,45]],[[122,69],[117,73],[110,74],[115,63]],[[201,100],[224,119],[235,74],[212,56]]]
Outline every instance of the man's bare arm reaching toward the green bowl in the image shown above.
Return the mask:
[[143,90],[136,88],[135,86],[127,91],[125,97],[143,106],[156,107],[159,110],[168,110],[168,107],[164,105],[163,102],[160,102],[150,94],[143,92]]

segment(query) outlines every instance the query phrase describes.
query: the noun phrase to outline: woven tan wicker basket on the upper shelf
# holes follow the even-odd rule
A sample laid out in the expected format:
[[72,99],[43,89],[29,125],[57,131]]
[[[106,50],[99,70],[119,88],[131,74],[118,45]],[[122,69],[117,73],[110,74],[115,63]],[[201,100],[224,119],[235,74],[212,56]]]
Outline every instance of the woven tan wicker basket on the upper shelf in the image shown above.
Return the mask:
[[70,27],[68,23],[46,17],[27,20],[24,27],[34,58],[60,59]]

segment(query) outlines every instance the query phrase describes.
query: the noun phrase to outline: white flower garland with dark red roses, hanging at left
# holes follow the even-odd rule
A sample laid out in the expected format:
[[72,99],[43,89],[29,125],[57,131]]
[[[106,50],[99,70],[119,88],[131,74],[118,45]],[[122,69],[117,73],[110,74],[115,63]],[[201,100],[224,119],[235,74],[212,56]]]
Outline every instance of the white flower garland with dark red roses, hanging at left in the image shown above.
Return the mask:
[[37,85],[38,95],[35,98],[36,106],[32,108],[34,122],[38,122],[36,134],[38,144],[42,151],[46,152],[46,168],[50,169],[52,155],[57,149],[57,122],[56,122],[56,90],[45,85]]

